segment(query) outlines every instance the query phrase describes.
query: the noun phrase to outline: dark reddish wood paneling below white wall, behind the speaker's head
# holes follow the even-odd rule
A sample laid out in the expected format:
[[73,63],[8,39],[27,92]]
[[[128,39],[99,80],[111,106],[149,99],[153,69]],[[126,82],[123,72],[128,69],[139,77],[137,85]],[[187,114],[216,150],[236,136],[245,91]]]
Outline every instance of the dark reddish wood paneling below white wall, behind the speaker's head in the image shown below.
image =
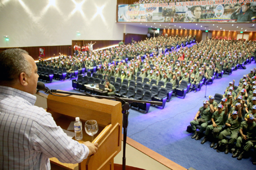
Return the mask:
[[[59,45],[59,46],[26,46],[19,47],[20,49],[24,49],[33,57],[35,60],[38,60],[39,57],[39,48],[44,48],[45,56],[42,56],[43,59],[48,59],[55,56],[59,56],[59,53],[69,56],[72,54],[71,45]],[[0,48],[0,52],[10,49],[10,48]]]

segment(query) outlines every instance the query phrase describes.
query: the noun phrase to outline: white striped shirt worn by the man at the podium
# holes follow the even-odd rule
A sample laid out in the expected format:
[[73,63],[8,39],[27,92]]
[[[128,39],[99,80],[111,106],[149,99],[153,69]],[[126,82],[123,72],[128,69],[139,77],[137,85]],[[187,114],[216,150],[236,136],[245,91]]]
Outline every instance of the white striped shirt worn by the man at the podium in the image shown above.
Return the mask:
[[0,86],[0,169],[51,169],[49,158],[80,163],[89,149],[70,139],[36,97]]

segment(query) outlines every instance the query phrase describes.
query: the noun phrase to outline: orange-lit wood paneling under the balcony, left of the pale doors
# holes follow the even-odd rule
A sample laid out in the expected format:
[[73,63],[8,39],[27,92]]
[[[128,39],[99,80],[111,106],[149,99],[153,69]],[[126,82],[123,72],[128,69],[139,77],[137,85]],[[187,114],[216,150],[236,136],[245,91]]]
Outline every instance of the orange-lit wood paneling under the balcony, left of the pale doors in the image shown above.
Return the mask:
[[202,31],[199,30],[188,30],[188,29],[163,29],[163,35],[167,33],[168,36],[194,36],[196,35],[196,41],[202,40]]

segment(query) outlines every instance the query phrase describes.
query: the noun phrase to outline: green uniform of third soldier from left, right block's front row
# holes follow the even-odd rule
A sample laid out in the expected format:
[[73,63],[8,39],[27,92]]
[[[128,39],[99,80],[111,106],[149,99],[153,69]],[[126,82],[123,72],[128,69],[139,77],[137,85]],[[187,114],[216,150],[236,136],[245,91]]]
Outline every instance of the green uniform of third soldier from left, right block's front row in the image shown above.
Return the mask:
[[[225,129],[224,131],[221,131],[220,135],[218,135],[218,139],[221,140],[222,144],[234,144],[236,142],[236,139],[238,137],[238,131],[240,128],[242,118],[238,117],[233,118],[232,116],[229,117],[229,119],[226,121],[226,124],[230,124],[231,126],[228,127],[228,129]],[[230,135],[229,142],[224,139],[227,135]]]

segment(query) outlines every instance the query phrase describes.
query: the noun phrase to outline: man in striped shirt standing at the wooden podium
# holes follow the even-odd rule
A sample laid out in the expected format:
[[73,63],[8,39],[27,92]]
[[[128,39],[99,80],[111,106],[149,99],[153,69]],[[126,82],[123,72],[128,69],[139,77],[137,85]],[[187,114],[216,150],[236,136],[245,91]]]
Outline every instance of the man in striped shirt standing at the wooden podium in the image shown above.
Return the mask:
[[34,106],[38,82],[34,59],[22,49],[0,53],[1,169],[51,169],[49,158],[80,163],[97,143],[67,137],[50,113]]

